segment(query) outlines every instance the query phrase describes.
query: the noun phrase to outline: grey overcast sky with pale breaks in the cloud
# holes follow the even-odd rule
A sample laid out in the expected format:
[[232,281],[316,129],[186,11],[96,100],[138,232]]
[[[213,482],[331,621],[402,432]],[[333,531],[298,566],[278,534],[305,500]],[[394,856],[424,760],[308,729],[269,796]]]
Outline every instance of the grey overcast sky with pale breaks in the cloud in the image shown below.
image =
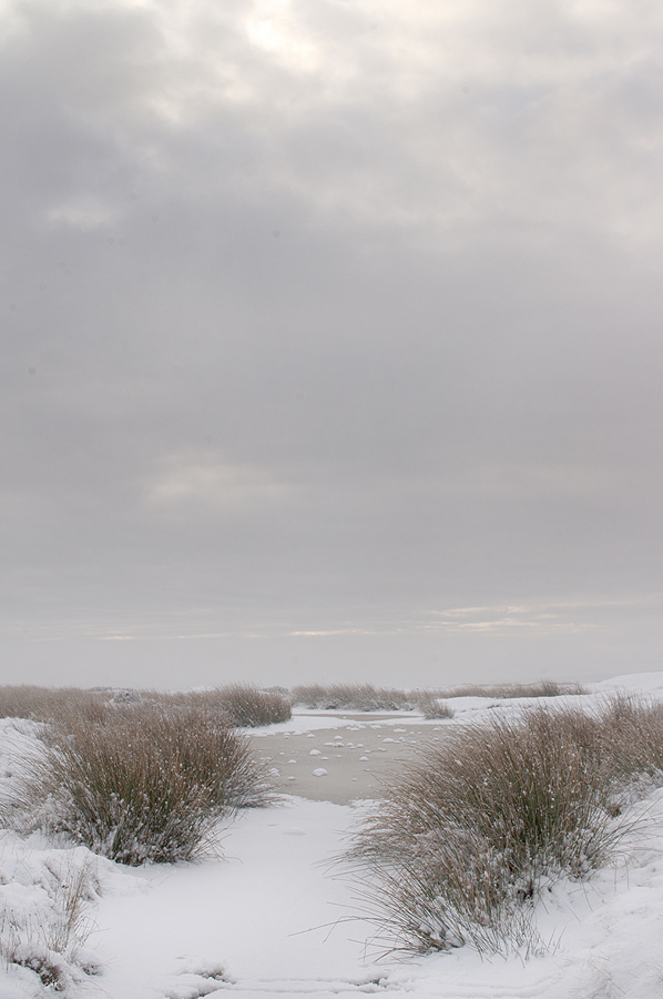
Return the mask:
[[9,683],[663,666],[660,0],[0,0]]

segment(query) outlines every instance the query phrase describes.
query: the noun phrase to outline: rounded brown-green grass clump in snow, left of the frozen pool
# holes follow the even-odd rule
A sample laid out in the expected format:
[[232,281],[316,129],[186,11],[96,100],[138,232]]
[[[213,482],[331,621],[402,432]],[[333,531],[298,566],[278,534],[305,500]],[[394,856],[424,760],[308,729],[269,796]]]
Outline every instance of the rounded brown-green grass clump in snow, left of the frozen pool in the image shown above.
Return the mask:
[[128,706],[50,726],[14,791],[14,827],[64,833],[135,866],[188,860],[217,821],[271,799],[265,765],[218,716]]

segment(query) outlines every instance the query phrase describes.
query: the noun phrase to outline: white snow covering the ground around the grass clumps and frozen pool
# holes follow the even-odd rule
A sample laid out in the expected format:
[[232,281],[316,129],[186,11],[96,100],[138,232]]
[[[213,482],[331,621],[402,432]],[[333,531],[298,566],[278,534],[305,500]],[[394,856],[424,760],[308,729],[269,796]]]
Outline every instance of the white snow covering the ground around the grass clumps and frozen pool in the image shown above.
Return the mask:
[[[596,684],[573,700],[591,705],[615,688],[663,698],[663,673]],[[445,725],[519,706],[522,702],[463,698],[453,703],[456,718]],[[411,723],[409,715],[408,727]],[[306,738],[307,731],[343,731],[356,724],[302,714],[266,731]],[[404,716],[381,724],[401,727]],[[27,723],[0,722],[0,790],[32,739]],[[310,768],[315,765],[310,757]],[[51,945],[62,935],[62,912],[72,910],[67,899],[79,891],[76,916],[86,941],[58,972],[58,983],[72,997],[663,996],[663,789],[633,806],[631,817],[639,821],[614,867],[586,882],[557,885],[540,905],[538,928],[548,947],[528,960],[521,955],[482,960],[469,948],[407,962],[382,956],[351,881],[328,865],[363,807],[289,796],[280,807],[246,811],[222,829],[217,859],[174,867],[128,869],[82,847],[0,834],[6,952],[18,947],[26,955],[31,948],[58,972]],[[0,958],[0,999],[53,991],[54,983],[44,986],[34,971]]]

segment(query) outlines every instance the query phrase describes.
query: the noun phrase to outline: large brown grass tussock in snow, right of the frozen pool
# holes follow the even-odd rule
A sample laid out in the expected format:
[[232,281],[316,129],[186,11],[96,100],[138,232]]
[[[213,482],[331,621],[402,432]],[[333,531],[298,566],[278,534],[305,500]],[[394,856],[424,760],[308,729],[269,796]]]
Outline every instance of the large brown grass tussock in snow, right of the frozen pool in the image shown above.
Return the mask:
[[663,779],[663,707],[532,708],[450,730],[398,778],[343,861],[390,947],[537,947],[533,901],[614,857],[630,780]]

